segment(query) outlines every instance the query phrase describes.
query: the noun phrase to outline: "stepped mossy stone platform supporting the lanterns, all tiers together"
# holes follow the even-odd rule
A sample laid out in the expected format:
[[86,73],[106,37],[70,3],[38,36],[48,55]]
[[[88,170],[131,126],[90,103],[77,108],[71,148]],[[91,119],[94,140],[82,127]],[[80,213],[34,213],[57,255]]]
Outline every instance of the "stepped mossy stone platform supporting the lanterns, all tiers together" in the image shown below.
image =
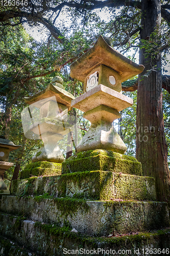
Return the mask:
[[[97,152],[91,153],[100,155],[98,160],[91,155],[93,163],[103,157],[104,151]],[[80,166],[79,156],[76,161]],[[109,156],[110,162],[111,157],[115,156]],[[68,173],[74,160],[64,162],[62,175],[12,182],[11,195],[2,197],[0,235],[8,241],[9,250],[12,240],[30,252],[9,255],[69,255],[71,250],[81,255],[80,249],[85,250],[84,255],[97,254],[93,249],[98,255],[104,255],[102,249],[116,253],[125,250],[122,254],[107,251],[105,255],[136,255],[137,249],[138,255],[145,255],[147,248],[170,249],[168,206],[156,202],[154,178],[115,172],[115,165],[112,169],[107,166],[109,170],[101,166],[102,170],[89,171],[87,166],[82,172],[71,167],[75,172]],[[121,161],[132,166],[136,159]],[[4,243],[0,240],[0,255],[6,256],[8,246]]]

